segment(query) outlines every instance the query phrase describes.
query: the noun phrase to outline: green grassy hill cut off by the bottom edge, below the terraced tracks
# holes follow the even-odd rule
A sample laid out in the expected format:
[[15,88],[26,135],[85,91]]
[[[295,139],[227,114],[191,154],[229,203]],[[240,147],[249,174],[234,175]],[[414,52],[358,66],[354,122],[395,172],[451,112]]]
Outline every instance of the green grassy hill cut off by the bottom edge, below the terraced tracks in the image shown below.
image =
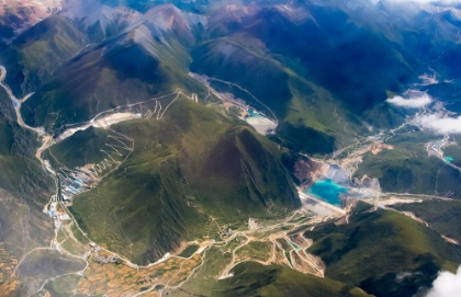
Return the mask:
[[[302,274],[286,266],[263,266],[243,262],[234,267],[233,277],[216,279],[231,261],[224,248],[206,250],[203,265],[180,289],[167,289],[171,297],[190,296],[369,296],[353,286],[330,278]],[[235,248],[235,247],[234,247]]]

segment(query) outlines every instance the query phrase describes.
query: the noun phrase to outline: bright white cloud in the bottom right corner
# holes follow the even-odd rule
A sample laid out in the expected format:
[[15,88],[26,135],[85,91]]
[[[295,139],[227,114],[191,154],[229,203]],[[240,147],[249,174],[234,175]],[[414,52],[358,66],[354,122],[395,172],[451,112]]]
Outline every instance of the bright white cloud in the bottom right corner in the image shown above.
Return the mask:
[[426,297],[461,297],[461,266],[457,274],[439,272]]

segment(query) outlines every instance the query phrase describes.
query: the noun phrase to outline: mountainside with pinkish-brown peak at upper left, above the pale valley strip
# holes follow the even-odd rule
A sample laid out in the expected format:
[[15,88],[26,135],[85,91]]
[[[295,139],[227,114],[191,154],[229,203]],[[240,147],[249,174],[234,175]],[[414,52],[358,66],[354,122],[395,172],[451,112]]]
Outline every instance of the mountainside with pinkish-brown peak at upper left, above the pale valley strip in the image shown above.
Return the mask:
[[[173,19],[167,20],[169,13]],[[120,35],[86,48],[54,72],[22,107],[33,126],[59,128],[98,113],[183,90],[205,96],[188,76],[187,46],[200,20],[170,5],[153,9]],[[198,23],[196,23],[198,22]],[[49,114],[56,116],[48,116]]]

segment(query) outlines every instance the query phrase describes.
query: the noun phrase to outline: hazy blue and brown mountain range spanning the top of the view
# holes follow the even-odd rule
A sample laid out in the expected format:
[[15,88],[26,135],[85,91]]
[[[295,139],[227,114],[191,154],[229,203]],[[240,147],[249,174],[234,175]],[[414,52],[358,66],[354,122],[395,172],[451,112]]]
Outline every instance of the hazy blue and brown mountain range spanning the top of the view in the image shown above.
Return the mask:
[[[279,119],[280,144],[328,152],[364,133],[363,122],[378,128],[402,123],[402,112],[385,103],[389,92],[402,93],[423,73],[450,79],[461,71],[453,64],[457,7],[368,0],[119,4],[64,1],[58,16],[13,39],[0,59],[16,93],[37,92],[23,108],[27,123],[56,129],[177,88],[203,93],[187,76],[193,71],[236,83],[265,103]],[[327,121],[331,108],[340,124]],[[59,116],[45,119],[49,113]]]

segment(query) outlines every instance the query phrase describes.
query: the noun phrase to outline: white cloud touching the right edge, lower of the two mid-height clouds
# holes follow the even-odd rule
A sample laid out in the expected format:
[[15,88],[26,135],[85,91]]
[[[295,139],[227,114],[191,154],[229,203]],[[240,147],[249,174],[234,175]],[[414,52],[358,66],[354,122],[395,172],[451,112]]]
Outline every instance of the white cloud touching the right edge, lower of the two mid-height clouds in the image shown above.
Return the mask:
[[440,114],[423,115],[414,124],[439,134],[461,134],[461,116],[442,117]]

